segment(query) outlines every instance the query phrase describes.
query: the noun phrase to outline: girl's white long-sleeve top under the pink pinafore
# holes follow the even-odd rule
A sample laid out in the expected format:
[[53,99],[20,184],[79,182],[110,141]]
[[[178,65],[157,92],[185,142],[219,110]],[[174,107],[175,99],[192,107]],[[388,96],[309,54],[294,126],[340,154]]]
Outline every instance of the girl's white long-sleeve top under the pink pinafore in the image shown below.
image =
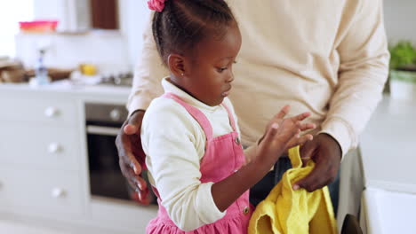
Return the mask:
[[[213,137],[233,131],[222,105],[205,105],[166,79],[162,84],[165,92],[179,96],[204,113],[212,125]],[[224,104],[237,121],[228,98]],[[225,215],[212,199],[213,183],[199,181],[205,140],[204,130],[182,105],[170,98],[156,98],[151,102],[141,126],[149,182],[157,188],[162,206],[181,230],[195,230]],[[255,148],[244,151],[245,156],[252,157]]]

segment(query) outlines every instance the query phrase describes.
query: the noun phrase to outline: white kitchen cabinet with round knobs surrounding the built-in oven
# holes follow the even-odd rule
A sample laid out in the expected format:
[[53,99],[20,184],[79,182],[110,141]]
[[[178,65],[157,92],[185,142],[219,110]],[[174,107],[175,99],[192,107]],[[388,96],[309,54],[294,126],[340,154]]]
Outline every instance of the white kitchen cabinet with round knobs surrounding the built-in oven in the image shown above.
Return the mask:
[[144,233],[156,206],[90,192],[84,105],[124,105],[129,91],[0,84],[0,216],[69,233]]

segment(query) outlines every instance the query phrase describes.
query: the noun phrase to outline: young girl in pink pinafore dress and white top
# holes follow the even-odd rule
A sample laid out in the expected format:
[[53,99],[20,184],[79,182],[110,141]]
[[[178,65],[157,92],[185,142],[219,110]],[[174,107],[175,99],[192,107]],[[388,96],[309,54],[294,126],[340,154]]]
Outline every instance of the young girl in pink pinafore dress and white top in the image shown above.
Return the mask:
[[[248,190],[289,147],[310,140],[302,113],[268,124],[259,146],[244,152],[227,96],[241,46],[222,0],[151,0],[153,35],[170,76],[144,116],[141,142],[159,204],[147,233],[246,233]],[[250,94],[247,94],[250,95]],[[247,161],[246,161],[247,159]],[[189,232],[188,232],[189,231]]]

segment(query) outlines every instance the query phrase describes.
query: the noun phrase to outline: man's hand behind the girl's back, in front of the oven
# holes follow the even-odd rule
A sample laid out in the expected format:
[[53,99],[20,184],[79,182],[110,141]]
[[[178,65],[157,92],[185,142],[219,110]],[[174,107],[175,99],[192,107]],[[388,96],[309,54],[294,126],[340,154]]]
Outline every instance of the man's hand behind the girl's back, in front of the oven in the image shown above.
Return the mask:
[[140,129],[144,111],[138,110],[126,120],[116,137],[120,169],[130,186],[138,192],[139,200],[148,204],[148,185],[141,177],[145,153],[141,148]]

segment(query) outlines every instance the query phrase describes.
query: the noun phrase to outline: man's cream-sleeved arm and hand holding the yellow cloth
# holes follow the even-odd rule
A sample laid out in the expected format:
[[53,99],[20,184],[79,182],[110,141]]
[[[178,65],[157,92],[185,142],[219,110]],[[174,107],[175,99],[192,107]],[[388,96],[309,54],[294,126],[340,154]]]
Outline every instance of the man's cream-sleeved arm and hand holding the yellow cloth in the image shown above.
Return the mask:
[[335,48],[340,55],[339,82],[329,102],[321,132],[300,149],[304,161],[316,167],[293,189],[320,189],[336,178],[342,155],[356,147],[358,135],[380,102],[388,76],[388,44],[383,23],[382,1],[347,1],[353,17],[340,23]]

